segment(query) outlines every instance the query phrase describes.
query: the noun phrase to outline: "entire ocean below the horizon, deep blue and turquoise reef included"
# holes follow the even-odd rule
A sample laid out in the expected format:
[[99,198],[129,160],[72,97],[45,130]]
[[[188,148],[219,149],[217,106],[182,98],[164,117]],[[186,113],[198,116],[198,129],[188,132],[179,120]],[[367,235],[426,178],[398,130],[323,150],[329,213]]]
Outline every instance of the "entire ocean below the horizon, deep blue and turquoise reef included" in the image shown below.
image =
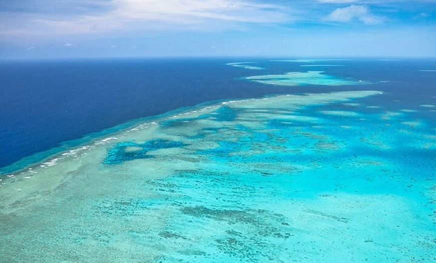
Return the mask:
[[3,61],[0,259],[432,262],[435,83],[435,59]]

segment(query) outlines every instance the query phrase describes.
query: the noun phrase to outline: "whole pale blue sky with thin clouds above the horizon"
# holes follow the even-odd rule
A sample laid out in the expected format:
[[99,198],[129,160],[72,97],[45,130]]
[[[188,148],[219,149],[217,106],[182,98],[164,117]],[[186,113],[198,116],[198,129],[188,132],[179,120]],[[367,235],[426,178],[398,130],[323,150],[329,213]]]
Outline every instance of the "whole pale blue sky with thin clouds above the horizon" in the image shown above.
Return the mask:
[[436,0],[0,0],[0,59],[436,57]]

